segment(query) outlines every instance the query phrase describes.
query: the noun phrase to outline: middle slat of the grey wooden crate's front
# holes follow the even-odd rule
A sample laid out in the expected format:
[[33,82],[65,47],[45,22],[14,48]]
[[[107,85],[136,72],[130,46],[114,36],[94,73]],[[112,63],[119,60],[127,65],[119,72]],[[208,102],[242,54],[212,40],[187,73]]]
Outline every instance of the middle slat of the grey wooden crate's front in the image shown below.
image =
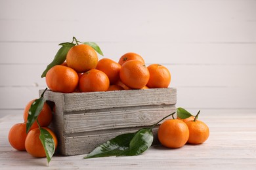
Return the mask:
[[64,133],[151,126],[172,112],[175,112],[175,105],[122,107],[64,114]]

